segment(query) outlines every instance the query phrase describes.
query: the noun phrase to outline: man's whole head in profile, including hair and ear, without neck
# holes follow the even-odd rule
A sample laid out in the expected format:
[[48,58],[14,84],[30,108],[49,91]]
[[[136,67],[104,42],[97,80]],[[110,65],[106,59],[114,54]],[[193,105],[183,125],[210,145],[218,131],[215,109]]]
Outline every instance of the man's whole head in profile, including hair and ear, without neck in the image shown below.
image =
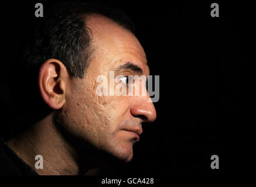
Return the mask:
[[[96,79],[105,75],[110,82],[111,70],[115,77],[149,75],[144,49],[124,20],[98,11],[68,10],[66,13],[72,16],[56,13],[59,27],[49,23],[53,28],[47,28],[50,30],[45,37],[50,47],[40,51],[46,55],[30,58],[30,63],[40,67],[42,100],[52,109],[57,125],[70,136],[130,161],[132,146],[142,133],[141,124],[156,118],[153,103],[148,102],[149,95],[100,96]],[[52,22],[57,24],[56,20]],[[73,27],[68,26],[71,22]]]

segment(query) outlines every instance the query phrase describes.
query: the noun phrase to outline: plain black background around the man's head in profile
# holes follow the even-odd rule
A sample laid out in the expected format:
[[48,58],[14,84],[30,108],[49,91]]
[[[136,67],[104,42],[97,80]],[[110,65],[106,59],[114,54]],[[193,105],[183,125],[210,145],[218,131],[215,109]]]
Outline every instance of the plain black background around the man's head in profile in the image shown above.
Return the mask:
[[[22,85],[16,72],[19,54],[29,36],[37,1],[1,4],[1,135],[12,124]],[[38,1],[44,9],[52,1]],[[106,2],[106,1],[104,1]],[[125,167],[103,174],[156,176],[230,174],[237,172],[235,130],[244,110],[244,5],[219,1],[108,1],[135,22],[136,36],[148,57],[151,75],[160,75],[156,121],[145,124]],[[219,3],[220,17],[210,16]],[[21,73],[21,72],[20,72]],[[22,98],[20,98],[22,99]],[[210,168],[219,155],[220,169]]]

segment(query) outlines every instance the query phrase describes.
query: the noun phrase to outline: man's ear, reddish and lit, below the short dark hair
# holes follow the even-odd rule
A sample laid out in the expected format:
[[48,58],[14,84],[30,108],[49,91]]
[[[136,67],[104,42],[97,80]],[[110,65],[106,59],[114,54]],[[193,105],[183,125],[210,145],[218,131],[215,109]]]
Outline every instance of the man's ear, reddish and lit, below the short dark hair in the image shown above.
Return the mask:
[[51,58],[40,67],[39,90],[50,108],[57,110],[63,107],[68,81],[69,73],[61,61]]

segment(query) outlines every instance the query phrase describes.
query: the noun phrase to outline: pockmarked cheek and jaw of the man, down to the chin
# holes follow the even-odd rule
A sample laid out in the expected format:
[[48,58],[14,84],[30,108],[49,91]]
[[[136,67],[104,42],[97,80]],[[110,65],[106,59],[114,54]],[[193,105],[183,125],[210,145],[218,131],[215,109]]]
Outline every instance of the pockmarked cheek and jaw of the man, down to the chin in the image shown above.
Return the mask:
[[88,141],[98,150],[129,161],[134,142],[120,132],[129,105],[122,96],[98,96],[95,92],[97,83],[91,81],[93,79],[95,76],[88,74],[86,78],[73,82],[66,99],[65,125],[71,134]]

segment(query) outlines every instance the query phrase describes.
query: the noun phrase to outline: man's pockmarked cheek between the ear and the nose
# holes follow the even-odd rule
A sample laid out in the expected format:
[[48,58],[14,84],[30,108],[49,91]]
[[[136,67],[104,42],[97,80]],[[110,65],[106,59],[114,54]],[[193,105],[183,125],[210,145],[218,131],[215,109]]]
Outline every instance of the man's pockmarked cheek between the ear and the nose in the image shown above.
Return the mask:
[[89,83],[76,86],[67,98],[69,121],[81,136],[111,138],[129,113],[129,96],[98,96],[97,86]]

